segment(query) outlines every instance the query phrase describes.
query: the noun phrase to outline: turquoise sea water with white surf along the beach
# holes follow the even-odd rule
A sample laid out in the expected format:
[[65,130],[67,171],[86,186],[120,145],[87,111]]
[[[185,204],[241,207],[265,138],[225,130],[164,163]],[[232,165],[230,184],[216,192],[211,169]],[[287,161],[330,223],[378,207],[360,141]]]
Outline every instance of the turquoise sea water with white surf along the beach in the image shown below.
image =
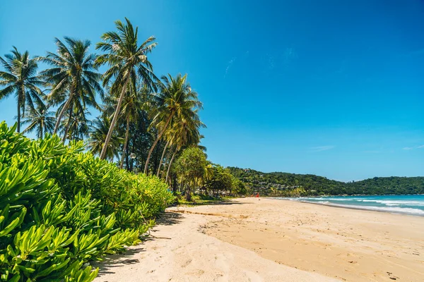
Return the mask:
[[424,195],[338,196],[284,198],[338,207],[424,216]]

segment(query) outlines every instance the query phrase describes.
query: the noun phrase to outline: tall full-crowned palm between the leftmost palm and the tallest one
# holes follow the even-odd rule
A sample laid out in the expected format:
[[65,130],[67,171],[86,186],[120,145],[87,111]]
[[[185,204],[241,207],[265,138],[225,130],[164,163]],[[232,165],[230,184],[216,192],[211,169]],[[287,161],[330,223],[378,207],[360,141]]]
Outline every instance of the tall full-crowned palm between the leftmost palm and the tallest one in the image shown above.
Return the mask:
[[[41,73],[47,85],[52,87],[49,101],[51,104],[64,102],[57,116],[53,134],[57,133],[61,118],[65,111],[69,110],[73,99],[87,95],[93,97],[92,100],[95,102],[95,92],[100,95],[103,94],[102,87],[99,84],[101,75],[95,72],[97,71],[94,66],[96,55],[88,53],[90,41],[70,37],[64,37],[64,39],[68,46],[55,38],[54,41],[58,47],[57,54],[47,52],[47,56],[41,58],[42,61],[52,66],[52,68]],[[69,114],[71,115],[72,112],[73,110],[70,110]]]

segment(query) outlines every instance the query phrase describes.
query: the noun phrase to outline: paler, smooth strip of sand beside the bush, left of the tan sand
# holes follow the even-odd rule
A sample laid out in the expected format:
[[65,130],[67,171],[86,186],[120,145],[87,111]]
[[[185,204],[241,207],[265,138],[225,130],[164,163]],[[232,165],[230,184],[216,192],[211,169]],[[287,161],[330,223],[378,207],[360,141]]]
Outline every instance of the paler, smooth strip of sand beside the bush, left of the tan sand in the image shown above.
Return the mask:
[[153,238],[93,264],[95,281],[336,281],[206,235],[202,226],[215,217],[167,212]]

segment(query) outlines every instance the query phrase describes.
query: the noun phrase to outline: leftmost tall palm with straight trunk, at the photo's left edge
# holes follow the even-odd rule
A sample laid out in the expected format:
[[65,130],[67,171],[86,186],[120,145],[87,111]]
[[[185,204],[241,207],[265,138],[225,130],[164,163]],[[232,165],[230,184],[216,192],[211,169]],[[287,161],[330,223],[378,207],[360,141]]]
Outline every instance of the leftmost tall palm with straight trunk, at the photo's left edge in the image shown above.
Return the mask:
[[[42,85],[37,77],[37,58],[30,58],[28,51],[23,54],[13,46],[12,54],[6,54],[0,63],[5,71],[0,71],[0,100],[15,92],[18,100],[18,133],[20,132],[20,118],[25,115],[25,106],[33,109],[33,102],[42,102]],[[22,110],[22,113],[21,113]]]

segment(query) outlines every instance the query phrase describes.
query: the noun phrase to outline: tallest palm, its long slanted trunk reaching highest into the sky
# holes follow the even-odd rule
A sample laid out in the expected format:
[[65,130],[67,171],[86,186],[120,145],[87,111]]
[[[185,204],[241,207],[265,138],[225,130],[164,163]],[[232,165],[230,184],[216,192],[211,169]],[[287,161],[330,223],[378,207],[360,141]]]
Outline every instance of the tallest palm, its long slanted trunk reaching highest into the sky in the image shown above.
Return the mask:
[[126,23],[120,20],[115,22],[117,32],[106,32],[102,35],[103,42],[99,42],[96,49],[107,52],[102,54],[96,59],[96,66],[101,66],[107,63],[110,68],[103,75],[103,85],[107,85],[112,78],[114,82],[111,87],[112,92],[120,90],[117,107],[114,111],[112,123],[107,132],[105,145],[100,154],[101,159],[105,159],[106,150],[112,137],[112,132],[117,123],[119,113],[121,111],[121,104],[124,100],[126,87],[129,82],[133,84],[134,89],[136,77],[143,80],[143,83],[152,89],[155,89],[155,81],[158,80],[153,74],[153,67],[147,59],[147,54],[155,48],[155,37],[148,37],[148,39],[139,45],[138,32],[139,28],[134,29],[130,21],[125,18]]

